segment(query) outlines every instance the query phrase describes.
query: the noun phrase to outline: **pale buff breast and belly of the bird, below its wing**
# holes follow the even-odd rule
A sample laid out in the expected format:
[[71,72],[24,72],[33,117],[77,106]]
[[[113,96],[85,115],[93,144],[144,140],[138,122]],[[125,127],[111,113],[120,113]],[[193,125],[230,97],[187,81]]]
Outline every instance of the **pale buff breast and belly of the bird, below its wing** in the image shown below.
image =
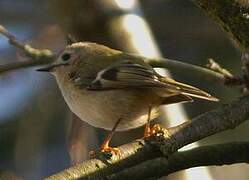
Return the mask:
[[156,103],[143,90],[90,91],[71,83],[65,85],[58,79],[57,82],[71,111],[95,127],[110,130],[122,118],[117,130],[129,130],[147,122],[151,106],[151,118],[157,114]]

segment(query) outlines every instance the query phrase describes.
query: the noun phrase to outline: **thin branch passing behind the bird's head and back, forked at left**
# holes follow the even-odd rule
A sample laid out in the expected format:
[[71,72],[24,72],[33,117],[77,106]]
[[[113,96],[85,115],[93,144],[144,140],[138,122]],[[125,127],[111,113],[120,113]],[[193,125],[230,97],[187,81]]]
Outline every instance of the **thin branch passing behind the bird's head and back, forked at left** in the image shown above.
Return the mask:
[[[25,68],[25,67],[32,67],[37,65],[44,65],[51,63],[55,56],[51,50],[48,49],[35,49],[28,44],[23,44],[17,40],[17,38],[8,32],[3,26],[0,25],[0,34],[4,35],[8,38],[10,44],[12,44],[17,49],[24,52],[25,56],[29,58],[27,61],[23,62],[13,62],[10,64],[0,65],[0,73],[7,72],[10,70]],[[172,71],[179,72],[183,75],[193,75],[195,73],[199,74],[199,77],[213,81],[218,83],[226,83],[228,80],[222,73],[215,72],[213,70],[187,64],[181,61],[167,59],[167,58],[160,58],[160,59],[151,59],[147,58],[148,63],[151,64],[153,67],[162,67],[168,68]]]

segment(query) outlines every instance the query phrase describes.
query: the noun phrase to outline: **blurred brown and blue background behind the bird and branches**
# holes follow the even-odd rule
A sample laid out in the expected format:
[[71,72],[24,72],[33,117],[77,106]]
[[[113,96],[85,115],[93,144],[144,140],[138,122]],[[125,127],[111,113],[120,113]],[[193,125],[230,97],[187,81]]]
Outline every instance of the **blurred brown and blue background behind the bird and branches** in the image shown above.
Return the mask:
[[[143,36],[133,37],[133,32],[129,31],[129,27],[135,26],[138,32],[147,32],[139,31],[141,21],[137,17],[140,17],[145,20],[146,28],[150,28],[149,37],[153,37],[152,44],[156,44],[156,48],[151,48],[157,56],[202,66],[208,58],[214,58],[233,73],[240,71],[240,52],[219,26],[190,1],[141,0],[138,4],[135,0],[116,0],[115,5],[112,2],[0,0],[0,24],[20,40],[37,48],[50,48],[54,52],[66,45],[68,34],[79,41],[93,41],[134,52],[136,46],[133,41],[142,38],[142,45],[150,43]],[[128,2],[133,3],[133,7]],[[120,24],[120,18],[130,12],[138,16],[128,16],[126,20],[131,20],[131,23],[127,24],[128,30],[124,30],[127,27],[123,27],[124,23]],[[126,34],[122,33],[124,31],[129,31],[127,37],[131,39],[127,40]],[[152,55],[155,53],[152,52]],[[0,63],[21,60],[22,54],[0,36]],[[239,89],[203,81],[198,75],[186,77],[174,72],[171,74],[178,81],[195,85],[219,97],[221,103],[229,103],[240,94]],[[0,179],[1,176],[7,177],[6,173],[13,178],[41,179],[61,171],[88,159],[88,152],[97,149],[107,134],[75,117],[65,104],[55,79],[49,74],[36,72],[35,68],[2,74],[0,99]],[[216,107],[216,103],[201,100],[184,104],[188,119]],[[165,118],[161,117],[158,121],[169,125]],[[247,140],[248,130],[249,124],[244,123],[235,130],[206,138],[200,144]],[[142,131],[143,128],[117,133],[112,145],[139,138]],[[206,179],[210,180],[249,178],[249,167],[243,164],[210,167],[207,172]],[[165,179],[188,178],[200,177],[187,177],[179,172]]]

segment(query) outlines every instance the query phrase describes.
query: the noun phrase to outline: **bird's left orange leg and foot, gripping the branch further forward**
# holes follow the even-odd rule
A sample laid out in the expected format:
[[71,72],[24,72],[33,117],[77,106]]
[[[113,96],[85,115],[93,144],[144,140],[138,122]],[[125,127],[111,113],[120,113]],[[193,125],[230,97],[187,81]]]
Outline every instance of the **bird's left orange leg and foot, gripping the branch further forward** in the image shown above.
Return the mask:
[[[107,137],[105,138],[105,140],[103,141],[102,145],[100,146],[100,152],[111,152],[114,153],[118,156],[121,155],[120,150],[118,148],[113,148],[109,146],[109,142],[111,141],[115,130],[117,129],[118,124],[120,123],[122,118],[119,118],[117,120],[117,122],[115,123],[114,127],[112,128],[112,130],[110,131],[110,133],[107,135]],[[90,152],[90,156],[95,156],[96,153],[94,151]]]

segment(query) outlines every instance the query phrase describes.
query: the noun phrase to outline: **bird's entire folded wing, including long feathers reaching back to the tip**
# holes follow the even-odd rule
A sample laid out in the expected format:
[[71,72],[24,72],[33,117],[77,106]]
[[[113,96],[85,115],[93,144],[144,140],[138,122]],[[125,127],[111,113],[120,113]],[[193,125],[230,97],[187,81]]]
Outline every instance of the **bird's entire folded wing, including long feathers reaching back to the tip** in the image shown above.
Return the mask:
[[193,86],[162,77],[155,70],[137,61],[122,61],[101,70],[87,87],[88,90],[113,90],[127,88],[155,88],[162,96],[184,95],[213,100],[217,99]]

